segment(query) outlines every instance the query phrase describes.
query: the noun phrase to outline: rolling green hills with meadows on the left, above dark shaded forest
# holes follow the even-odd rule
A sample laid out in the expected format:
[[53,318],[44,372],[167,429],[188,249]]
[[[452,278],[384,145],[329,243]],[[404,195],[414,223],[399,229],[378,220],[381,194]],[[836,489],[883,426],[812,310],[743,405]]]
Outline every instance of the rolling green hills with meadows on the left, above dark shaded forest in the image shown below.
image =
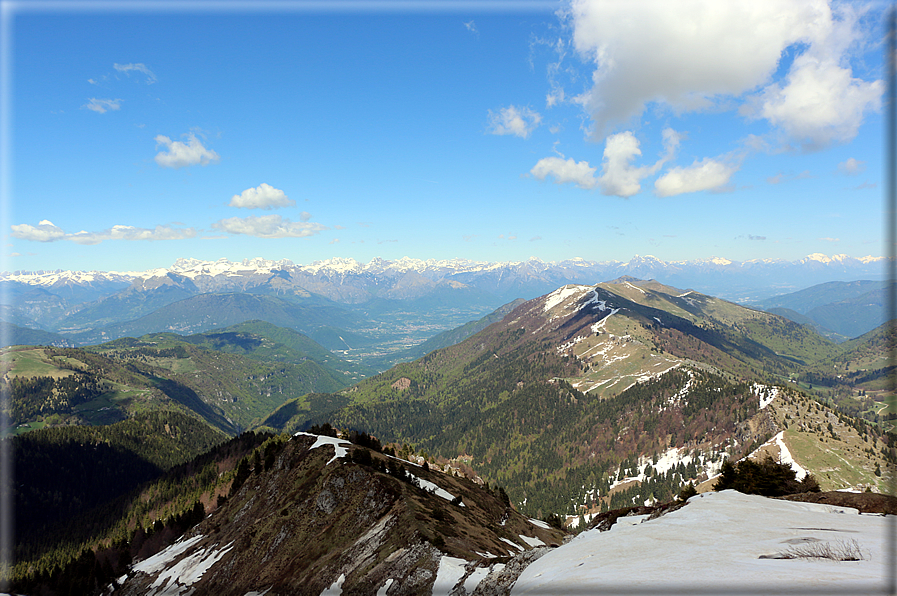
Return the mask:
[[15,426],[108,424],[174,408],[231,435],[285,401],[338,391],[367,372],[298,332],[261,322],[90,348],[7,348],[4,367],[0,383],[10,391]]

